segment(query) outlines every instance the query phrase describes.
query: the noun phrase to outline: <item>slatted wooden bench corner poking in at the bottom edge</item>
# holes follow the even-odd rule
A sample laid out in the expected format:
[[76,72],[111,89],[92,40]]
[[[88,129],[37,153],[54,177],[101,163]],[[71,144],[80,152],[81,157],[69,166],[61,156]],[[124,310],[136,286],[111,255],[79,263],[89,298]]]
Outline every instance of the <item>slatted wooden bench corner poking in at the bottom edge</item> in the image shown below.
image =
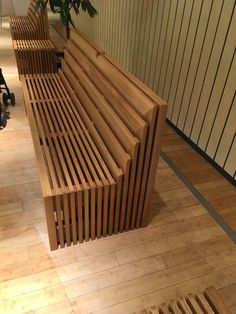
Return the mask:
[[[230,310],[214,287],[188,294],[169,303],[154,305],[139,314],[230,314]],[[135,314],[135,313],[134,313]]]

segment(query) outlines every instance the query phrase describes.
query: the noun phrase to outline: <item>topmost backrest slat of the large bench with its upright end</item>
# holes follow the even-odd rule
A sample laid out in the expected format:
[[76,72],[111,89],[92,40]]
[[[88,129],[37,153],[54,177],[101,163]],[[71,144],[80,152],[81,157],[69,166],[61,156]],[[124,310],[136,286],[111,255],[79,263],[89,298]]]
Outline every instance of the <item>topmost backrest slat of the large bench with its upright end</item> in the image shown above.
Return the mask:
[[[149,125],[145,160],[142,169],[141,187],[138,204],[137,215],[133,212],[131,228],[145,226],[151,195],[154,186],[154,176],[158,163],[160,151],[160,139],[163,123],[165,120],[167,105],[158,96],[154,96],[153,92],[139,82],[133,79],[132,75],[128,75],[125,70],[121,70],[121,66],[110,61],[101,49],[97,49],[91,44],[81,33],[71,31],[70,36],[87,59],[92,62],[96,69],[109,81],[114,89],[127,101],[127,103],[139,114],[139,116]],[[149,180],[150,179],[150,180]],[[147,214],[145,214],[147,212]]]

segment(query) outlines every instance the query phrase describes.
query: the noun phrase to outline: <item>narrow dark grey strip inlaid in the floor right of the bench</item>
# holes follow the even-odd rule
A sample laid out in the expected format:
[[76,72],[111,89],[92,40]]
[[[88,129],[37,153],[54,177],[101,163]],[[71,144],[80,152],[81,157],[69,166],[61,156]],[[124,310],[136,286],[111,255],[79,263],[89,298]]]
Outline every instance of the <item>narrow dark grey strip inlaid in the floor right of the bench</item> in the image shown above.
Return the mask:
[[211,204],[203,197],[203,195],[193,186],[190,180],[183,175],[178,167],[173,163],[173,161],[161,151],[161,157],[170,166],[170,168],[175,172],[179,179],[186,185],[186,187],[193,193],[196,199],[206,208],[208,213],[215,219],[215,221],[223,228],[223,230],[228,234],[231,240],[236,243],[236,232],[232,230],[224,221],[224,219],[217,213],[217,211],[211,206]]

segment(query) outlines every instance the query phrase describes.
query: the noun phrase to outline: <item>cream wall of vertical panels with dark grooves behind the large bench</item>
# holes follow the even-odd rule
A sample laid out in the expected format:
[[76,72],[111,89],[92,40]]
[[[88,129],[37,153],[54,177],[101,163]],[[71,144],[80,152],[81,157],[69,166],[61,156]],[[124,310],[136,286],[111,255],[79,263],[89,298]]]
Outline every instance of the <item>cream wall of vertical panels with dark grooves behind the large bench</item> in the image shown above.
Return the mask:
[[167,101],[168,119],[235,178],[235,1],[93,3],[99,15],[77,26]]

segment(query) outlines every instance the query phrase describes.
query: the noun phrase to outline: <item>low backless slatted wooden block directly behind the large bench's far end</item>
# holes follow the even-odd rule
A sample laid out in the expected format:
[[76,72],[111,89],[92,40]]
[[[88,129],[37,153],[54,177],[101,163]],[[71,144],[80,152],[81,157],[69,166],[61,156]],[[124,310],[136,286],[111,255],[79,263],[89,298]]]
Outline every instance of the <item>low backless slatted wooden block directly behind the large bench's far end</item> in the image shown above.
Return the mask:
[[51,40],[13,40],[13,49],[19,75],[53,72]]

